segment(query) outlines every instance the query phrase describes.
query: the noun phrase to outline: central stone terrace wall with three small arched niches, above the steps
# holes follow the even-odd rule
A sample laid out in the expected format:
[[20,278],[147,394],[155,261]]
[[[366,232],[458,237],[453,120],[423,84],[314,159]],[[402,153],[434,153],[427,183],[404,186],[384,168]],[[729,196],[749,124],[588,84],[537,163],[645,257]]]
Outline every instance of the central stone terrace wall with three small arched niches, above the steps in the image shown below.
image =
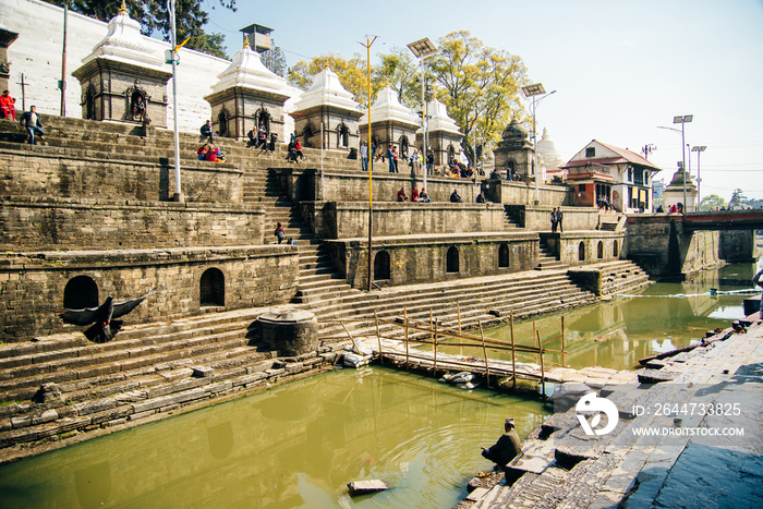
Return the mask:
[[[508,263],[500,266],[499,251],[504,244]],[[367,288],[367,242],[328,241],[327,245],[348,283],[358,289]],[[374,263],[377,263],[377,256],[388,256],[389,277],[375,277],[375,281],[391,286],[415,284],[531,270],[537,265],[537,246],[536,233],[378,238],[374,239]],[[448,251],[451,249],[458,253],[458,267],[450,267],[456,270],[448,270]],[[380,255],[380,252],[386,255]]]

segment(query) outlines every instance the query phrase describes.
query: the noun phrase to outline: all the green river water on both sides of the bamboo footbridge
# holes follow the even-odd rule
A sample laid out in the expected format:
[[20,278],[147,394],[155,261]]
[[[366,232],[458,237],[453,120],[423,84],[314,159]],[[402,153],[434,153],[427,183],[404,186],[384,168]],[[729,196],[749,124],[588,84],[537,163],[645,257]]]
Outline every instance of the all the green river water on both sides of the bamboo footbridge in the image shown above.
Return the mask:
[[[744,295],[704,293],[749,289],[754,268],[566,312],[567,364],[630,368],[727,327]],[[559,335],[560,316],[536,320],[542,341]],[[518,341],[532,327],[516,324]],[[486,335],[508,340],[508,327]],[[377,366],[337,369],[2,465],[0,508],[448,508],[491,468],[480,446],[506,416],[524,436],[548,414],[532,398]],[[365,478],[393,488],[351,499],[346,484]]]

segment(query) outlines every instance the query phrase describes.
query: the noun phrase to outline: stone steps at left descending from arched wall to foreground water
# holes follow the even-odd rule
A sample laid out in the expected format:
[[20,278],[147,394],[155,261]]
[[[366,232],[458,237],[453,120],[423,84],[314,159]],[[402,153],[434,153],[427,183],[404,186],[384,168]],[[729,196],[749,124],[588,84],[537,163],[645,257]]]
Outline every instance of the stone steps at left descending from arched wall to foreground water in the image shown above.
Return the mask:
[[0,462],[331,368],[347,342],[277,357],[246,324],[263,308],[0,346]]

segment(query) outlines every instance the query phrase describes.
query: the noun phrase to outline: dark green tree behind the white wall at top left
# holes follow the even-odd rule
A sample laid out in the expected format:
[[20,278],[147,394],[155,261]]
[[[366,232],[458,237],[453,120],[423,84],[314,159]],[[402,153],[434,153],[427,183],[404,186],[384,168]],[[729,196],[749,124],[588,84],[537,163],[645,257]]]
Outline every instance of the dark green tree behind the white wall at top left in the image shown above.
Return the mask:
[[[69,4],[69,9],[86,16],[108,22],[119,13],[120,3],[116,0],[46,0],[53,5],[63,7]],[[235,11],[235,0],[218,0],[225,9]],[[141,23],[141,33],[152,35],[159,33],[164,40],[170,40],[170,20],[167,11],[167,0],[125,0],[124,1],[130,17]],[[214,54],[215,57],[228,58],[222,34],[207,34],[204,25],[209,21],[209,15],[202,10],[203,0],[175,0],[175,32],[178,43],[182,43],[190,37],[185,47]],[[214,9],[213,3],[213,9]]]

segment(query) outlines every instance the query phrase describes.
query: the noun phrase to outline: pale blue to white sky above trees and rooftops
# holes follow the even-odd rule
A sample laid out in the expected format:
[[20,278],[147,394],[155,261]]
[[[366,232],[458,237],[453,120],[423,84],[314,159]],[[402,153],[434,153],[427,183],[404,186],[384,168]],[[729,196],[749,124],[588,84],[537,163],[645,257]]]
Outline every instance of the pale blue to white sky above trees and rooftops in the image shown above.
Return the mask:
[[[239,0],[235,13],[204,0],[208,32],[252,23],[274,29],[289,65],[312,57],[378,53],[465,29],[522,58],[528,77],[557,90],[537,107],[562,159],[597,140],[641,153],[669,183],[681,160],[674,117],[693,114],[686,143],[701,154],[702,196],[728,201],[736,189],[763,198],[763,0],[438,0],[290,3]],[[215,9],[213,9],[213,7]],[[288,5],[288,7],[287,7]],[[691,155],[691,157],[690,157]],[[687,150],[697,177],[697,153]]]

